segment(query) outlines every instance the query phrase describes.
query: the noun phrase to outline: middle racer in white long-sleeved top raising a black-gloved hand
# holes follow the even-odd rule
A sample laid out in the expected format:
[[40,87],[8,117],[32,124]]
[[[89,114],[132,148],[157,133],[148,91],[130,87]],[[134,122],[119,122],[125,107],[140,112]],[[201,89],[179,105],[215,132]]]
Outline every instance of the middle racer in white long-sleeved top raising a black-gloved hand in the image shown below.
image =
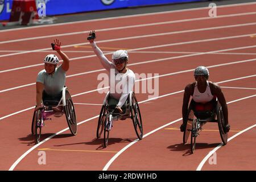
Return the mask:
[[[135,83],[135,75],[131,69],[127,68],[129,56],[127,51],[118,50],[112,55],[112,62],[109,61],[100,48],[97,47],[94,39],[95,32],[91,31],[88,35],[88,40],[93,48],[94,53],[100,59],[102,66],[109,72],[110,83],[110,105],[115,105],[115,110],[122,113],[122,106],[125,104],[129,93],[133,90]],[[115,80],[111,79],[115,78]],[[122,89],[118,85],[122,82]],[[114,86],[113,86],[114,85]]]

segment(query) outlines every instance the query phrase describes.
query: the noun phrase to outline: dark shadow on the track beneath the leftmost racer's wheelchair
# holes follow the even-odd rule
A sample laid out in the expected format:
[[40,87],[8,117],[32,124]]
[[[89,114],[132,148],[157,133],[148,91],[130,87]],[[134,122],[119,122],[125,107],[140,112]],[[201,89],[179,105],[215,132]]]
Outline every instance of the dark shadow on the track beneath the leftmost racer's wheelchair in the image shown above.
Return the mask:
[[[54,133],[41,134],[41,139],[40,140],[43,141],[44,139],[50,137],[53,134]],[[72,136],[73,136],[72,134],[59,134],[59,135],[56,135],[55,137],[53,137],[52,139],[67,138],[67,137],[72,137]],[[35,145],[35,135],[32,135],[32,134],[27,135],[27,137],[19,138],[19,140],[25,141],[25,142],[22,142],[22,143],[27,144],[27,146],[34,146]]]

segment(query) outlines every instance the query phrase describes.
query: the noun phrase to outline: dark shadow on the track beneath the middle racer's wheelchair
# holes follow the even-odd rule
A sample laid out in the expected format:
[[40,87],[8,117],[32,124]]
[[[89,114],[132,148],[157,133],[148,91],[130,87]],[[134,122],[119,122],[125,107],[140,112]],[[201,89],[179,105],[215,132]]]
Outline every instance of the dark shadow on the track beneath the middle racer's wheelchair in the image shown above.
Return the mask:
[[[108,145],[112,145],[115,143],[130,143],[133,142],[137,138],[109,138]],[[96,150],[102,150],[104,148],[104,139],[103,138],[94,138],[90,142],[80,142],[80,143],[71,143],[71,144],[61,144],[61,145],[55,145],[56,147],[60,146],[71,146],[75,144],[88,144],[88,145],[100,145],[96,148]]]

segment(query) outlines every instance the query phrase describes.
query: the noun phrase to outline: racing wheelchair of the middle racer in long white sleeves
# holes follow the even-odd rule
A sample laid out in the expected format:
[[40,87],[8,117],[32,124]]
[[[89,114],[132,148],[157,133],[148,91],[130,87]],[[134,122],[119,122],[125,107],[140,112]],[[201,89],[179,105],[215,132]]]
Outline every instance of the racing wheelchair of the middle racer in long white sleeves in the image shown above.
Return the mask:
[[109,105],[110,92],[106,94],[103,105],[100,111],[100,117],[98,118],[97,126],[97,139],[101,137],[104,131],[104,147],[108,146],[109,132],[112,127],[113,120],[125,120],[131,118],[137,137],[141,140],[143,138],[143,126],[141,119],[141,111],[135,97],[134,92],[130,92],[129,96],[122,106],[122,113],[115,113],[115,110]]

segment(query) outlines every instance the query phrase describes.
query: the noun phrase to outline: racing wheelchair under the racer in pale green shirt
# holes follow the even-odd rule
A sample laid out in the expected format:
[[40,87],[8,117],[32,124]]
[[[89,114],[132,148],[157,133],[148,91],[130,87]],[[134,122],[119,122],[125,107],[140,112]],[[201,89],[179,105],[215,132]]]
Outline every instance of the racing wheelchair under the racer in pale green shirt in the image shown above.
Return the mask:
[[52,115],[55,117],[61,117],[61,115],[65,114],[71,134],[77,134],[75,107],[73,105],[71,94],[66,86],[64,86],[60,97],[60,100],[47,100],[47,98],[43,99],[44,107],[34,111],[31,133],[32,135],[35,135],[36,144],[40,142],[42,127],[45,125],[44,122],[49,119],[51,120],[52,118],[49,117]]

